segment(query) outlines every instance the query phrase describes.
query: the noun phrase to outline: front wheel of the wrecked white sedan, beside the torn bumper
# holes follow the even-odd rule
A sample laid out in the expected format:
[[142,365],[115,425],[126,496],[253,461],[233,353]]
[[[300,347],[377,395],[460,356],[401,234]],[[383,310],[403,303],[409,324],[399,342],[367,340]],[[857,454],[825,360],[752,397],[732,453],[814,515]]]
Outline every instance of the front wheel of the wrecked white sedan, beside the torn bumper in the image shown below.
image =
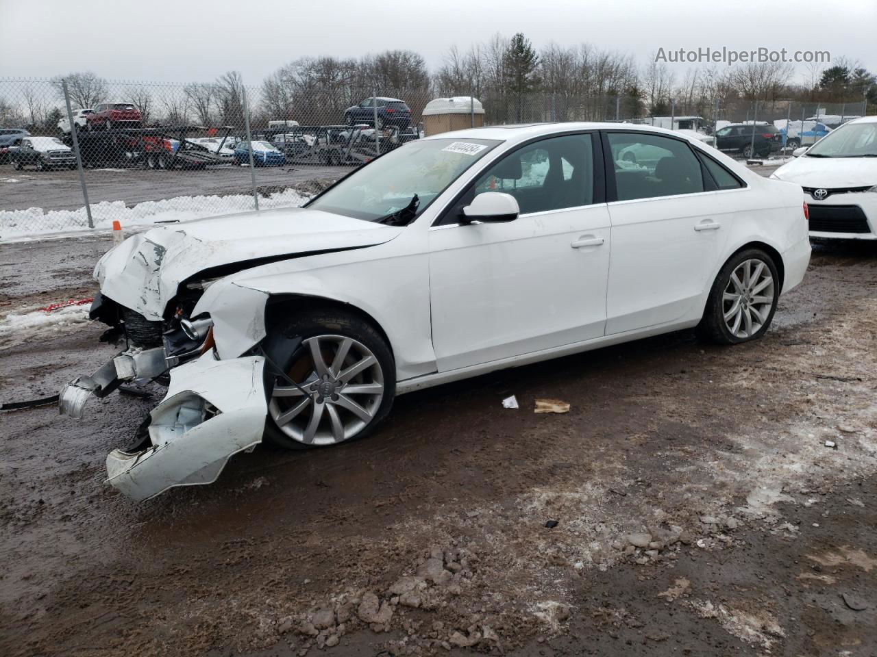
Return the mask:
[[381,334],[355,314],[330,309],[297,314],[280,333],[303,340],[294,353],[272,354],[301,389],[267,366],[265,440],[306,449],[372,433],[396,396],[396,364]]

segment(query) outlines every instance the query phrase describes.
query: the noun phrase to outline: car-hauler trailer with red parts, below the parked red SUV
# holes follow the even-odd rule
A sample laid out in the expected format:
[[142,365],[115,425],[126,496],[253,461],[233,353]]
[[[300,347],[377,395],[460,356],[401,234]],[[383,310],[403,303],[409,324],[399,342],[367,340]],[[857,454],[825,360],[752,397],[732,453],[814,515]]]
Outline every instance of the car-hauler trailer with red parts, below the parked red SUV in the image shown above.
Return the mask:
[[[200,125],[154,128],[112,128],[77,134],[82,166],[144,166],[147,169],[203,169],[208,165],[231,164],[221,149],[234,127],[226,125],[217,148],[190,140],[193,132],[208,131]],[[73,145],[71,135],[64,141]]]

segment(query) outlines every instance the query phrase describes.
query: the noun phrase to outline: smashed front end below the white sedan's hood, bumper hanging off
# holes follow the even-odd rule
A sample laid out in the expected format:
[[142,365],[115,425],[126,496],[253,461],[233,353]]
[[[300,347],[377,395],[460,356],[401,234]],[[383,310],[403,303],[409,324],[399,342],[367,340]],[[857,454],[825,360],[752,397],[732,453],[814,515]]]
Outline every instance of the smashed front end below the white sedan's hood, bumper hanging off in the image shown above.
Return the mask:
[[[148,321],[99,294],[91,318],[110,326],[104,341],[124,340],[126,348],[59,395],[61,414],[80,419],[88,399],[106,397],[125,382],[168,385],[139,445],[107,456],[107,483],[137,501],[175,486],[211,484],[229,458],[262,439],[265,359],[253,351],[219,359],[210,314],[191,316],[201,293],[203,286],[194,294],[182,286],[162,321]],[[223,307],[217,306],[225,326]]]

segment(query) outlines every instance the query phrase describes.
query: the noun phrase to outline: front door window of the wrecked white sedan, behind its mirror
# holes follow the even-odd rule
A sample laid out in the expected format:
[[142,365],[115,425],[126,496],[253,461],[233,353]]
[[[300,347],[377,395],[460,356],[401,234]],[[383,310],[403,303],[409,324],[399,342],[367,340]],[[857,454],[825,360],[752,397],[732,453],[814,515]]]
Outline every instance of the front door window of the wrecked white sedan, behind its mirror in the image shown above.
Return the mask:
[[481,192],[511,194],[522,215],[590,205],[594,202],[591,135],[541,139],[509,153],[475,182],[474,194]]

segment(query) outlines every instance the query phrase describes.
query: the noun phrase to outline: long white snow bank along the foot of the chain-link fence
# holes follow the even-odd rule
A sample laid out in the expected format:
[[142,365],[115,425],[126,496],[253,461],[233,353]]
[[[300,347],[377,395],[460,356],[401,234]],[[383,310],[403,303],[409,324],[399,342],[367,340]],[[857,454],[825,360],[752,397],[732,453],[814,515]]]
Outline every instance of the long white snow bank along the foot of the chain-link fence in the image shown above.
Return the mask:
[[[260,197],[259,207],[298,208],[308,200],[308,196],[294,189]],[[125,207],[125,201],[102,201],[91,204],[91,215],[95,228],[111,230],[114,220],[122,223],[123,229],[133,226],[148,226],[156,222],[189,221],[203,217],[228,215],[235,212],[253,210],[253,196],[236,194],[232,196],[177,196],[162,201],[146,201],[132,208]],[[46,235],[50,233],[72,233],[89,229],[89,219],[85,208],[76,210],[50,210],[28,208],[26,210],[4,210],[0,212],[0,242],[21,237]]]

